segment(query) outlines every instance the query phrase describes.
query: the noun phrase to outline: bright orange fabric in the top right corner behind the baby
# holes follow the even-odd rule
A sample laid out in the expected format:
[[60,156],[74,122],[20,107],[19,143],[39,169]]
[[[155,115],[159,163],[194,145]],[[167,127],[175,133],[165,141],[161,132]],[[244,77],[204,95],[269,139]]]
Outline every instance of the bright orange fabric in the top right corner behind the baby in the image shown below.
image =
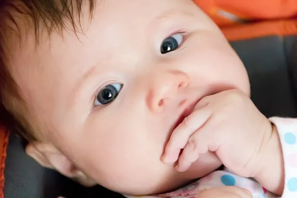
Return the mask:
[[194,0],[229,41],[297,35],[297,0]]

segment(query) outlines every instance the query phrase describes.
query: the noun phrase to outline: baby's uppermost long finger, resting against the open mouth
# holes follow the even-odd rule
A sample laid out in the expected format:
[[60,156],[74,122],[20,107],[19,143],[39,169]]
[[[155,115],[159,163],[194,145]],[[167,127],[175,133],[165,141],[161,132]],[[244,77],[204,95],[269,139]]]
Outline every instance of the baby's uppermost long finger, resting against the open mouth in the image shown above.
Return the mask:
[[190,136],[201,128],[211,116],[211,110],[204,107],[194,111],[186,117],[183,122],[176,127],[166,145],[162,161],[164,163],[174,163],[177,161],[181,149],[185,148]]

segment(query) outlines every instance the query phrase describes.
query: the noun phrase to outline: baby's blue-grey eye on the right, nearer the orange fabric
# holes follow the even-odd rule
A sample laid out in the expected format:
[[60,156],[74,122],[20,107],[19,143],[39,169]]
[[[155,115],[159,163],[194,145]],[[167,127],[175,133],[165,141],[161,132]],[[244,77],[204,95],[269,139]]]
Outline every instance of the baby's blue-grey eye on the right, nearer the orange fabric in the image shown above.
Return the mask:
[[165,54],[170,51],[174,51],[178,49],[178,47],[180,47],[180,45],[182,44],[183,39],[184,39],[183,34],[175,34],[175,35],[172,35],[171,37],[168,37],[161,44],[161,53]]

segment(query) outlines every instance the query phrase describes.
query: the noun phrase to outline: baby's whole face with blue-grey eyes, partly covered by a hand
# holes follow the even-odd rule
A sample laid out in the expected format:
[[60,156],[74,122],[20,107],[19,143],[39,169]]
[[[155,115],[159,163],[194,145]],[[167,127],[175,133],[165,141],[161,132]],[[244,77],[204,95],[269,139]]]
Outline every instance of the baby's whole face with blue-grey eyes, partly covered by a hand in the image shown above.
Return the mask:
[[167,191],[213,171],[206,153],[186,173],[160,157],[187,107],[223,90],[248,94],[246,70],[191,0],[98,0],[84,33],[34,32],[12,74],[34,122],[99,184],[133,193]]

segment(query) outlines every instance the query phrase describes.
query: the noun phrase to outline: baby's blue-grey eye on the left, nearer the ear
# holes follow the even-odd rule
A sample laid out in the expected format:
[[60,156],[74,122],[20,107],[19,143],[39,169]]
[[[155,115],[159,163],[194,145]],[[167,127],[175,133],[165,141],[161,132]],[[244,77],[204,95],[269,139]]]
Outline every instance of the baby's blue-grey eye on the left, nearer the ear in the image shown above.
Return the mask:
[[100,90],[96,96],[94,106],[105,105],[111,103],[120,93],[123,84],[110,84]]

